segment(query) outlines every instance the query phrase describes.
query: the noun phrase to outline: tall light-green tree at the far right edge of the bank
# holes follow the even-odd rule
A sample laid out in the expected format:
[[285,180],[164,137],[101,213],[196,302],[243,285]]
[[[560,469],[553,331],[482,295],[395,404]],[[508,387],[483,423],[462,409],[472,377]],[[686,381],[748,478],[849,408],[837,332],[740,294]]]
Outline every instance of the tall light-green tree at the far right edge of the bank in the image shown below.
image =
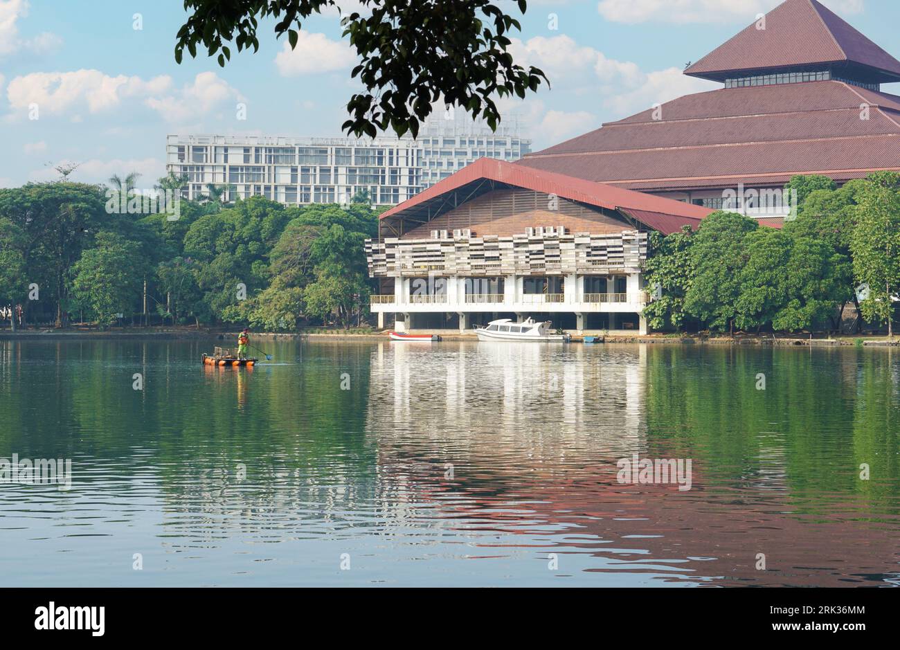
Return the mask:
[[900,294],[900,175],[876,172],[860,191],[860,207],[851,239],[853,272],[869,284],[860,303],[866,320],[887,320],[894,335],[894,302]]

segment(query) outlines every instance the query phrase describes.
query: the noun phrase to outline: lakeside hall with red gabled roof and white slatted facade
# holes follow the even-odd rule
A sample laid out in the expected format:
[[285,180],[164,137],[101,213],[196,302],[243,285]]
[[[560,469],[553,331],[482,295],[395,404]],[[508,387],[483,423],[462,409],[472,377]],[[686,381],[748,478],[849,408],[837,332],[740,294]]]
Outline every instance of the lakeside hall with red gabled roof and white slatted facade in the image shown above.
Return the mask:
[[366,242],[397,330],[531,316],[576,330],[645,332],[647,230],[710,210],[482,158],[384,212]]

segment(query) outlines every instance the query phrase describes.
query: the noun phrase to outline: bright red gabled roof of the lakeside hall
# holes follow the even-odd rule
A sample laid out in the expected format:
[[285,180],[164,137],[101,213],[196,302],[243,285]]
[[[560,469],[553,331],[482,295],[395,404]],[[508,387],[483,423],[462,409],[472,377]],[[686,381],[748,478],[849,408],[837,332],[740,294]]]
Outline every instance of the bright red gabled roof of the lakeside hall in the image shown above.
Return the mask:
[[[401,219],[404,216],[410,216],[432,219],[441,210],[449,210],[457,204],[461,204],[457,203],[457,196],[454,196],[453,203],[450,203],[448,201],[450,195],[470,187],[474,193],[475,188],[484,182],[555,194],[571,201],[614,212],[624,212],[636,221],[665,234],[680,230],[683,225],[697,226],[700,220],[713,212],[699,205],[682,203],[662,196],[653,196],[653,194],[634,192],[583,178],[514,165],[494,158],[479,158],[454,175],[448,176],[403,203],[395,205],[387,212],[383,212],[380,218]],[[496,185],[493,186],[496,187]]]

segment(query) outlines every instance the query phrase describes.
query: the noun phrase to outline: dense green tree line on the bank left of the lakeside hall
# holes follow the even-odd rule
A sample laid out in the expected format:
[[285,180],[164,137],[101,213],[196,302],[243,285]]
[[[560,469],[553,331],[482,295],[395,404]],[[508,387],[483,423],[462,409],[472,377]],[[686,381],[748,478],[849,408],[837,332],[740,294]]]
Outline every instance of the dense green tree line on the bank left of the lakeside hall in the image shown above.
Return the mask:
[[[286,206],[261,196],[230,204],[211,186],[200,202],[181,200],[176,214],[147,213],[137,209],[135,180],[0,190],[6,319],[17,320],[6,305],[23,312],[23,323],[56,327],[124,319],[296,330],[303,320],[348,327],[365,318],[363,242],[377,233],[379,212],[367,197],[346,205]],[[183,184],[170,175],[157,190]],[[134,212],[119,209],[132,200]]]

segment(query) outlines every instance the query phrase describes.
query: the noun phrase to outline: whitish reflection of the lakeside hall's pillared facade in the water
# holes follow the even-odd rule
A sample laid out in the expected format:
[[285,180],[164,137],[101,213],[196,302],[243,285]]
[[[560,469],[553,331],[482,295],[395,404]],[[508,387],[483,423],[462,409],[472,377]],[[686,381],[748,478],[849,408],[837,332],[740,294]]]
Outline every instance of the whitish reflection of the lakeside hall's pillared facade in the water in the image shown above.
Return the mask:
[[607,354],[616,363],[599,363],[587,346],[465,342],[436,365],[430,346],[383,342],[365,429],[379,448],[411,436],[488,457],[502,443],[525,462],[536,447],[565,454],[591,440],[609,458],[626,456],[644,441],[647,351]]

